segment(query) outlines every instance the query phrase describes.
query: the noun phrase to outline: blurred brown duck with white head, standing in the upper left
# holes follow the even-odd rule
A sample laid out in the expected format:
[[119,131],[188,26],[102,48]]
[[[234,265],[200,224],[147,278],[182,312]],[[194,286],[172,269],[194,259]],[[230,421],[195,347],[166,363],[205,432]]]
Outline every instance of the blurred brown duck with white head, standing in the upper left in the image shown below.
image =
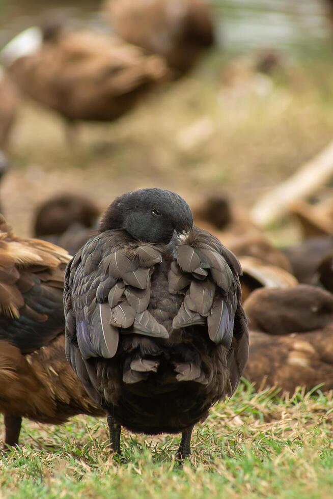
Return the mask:
[[32,28],[18,35],[2,58],[25,95],[68,122],[119,118],[167,71],[161,58],[116,37],[62,26],[45,27],[44,39],[40,32]]

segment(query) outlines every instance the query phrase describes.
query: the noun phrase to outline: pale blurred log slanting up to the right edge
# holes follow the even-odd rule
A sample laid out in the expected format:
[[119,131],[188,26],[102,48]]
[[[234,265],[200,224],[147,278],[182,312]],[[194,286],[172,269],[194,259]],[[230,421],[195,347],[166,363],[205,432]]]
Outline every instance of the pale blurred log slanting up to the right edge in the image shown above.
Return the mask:
[[313,194],[332,176],[333,141],[255,204],[251,210],[254,223],[264,227],[281,218],[290,204]]

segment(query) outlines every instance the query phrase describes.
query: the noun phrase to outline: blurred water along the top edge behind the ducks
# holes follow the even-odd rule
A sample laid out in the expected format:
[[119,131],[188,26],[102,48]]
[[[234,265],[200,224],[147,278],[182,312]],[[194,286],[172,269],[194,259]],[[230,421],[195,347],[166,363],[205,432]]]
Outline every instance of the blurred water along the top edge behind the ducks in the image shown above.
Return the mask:
[[[331,41],[324,0],[211,2],[219,43],[229,52],[268,46],[316,57]],[[98,6],[96,0],[0,0],[0,47],[47,10],[61,8],[78,25],[100,27]]]

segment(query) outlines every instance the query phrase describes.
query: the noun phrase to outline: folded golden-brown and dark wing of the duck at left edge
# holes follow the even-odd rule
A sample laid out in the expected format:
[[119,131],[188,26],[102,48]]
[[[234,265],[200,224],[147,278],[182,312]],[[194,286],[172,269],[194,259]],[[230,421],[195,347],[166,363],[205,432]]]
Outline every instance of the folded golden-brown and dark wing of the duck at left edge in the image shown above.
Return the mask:
[[62,248],[15,237],[0,216],[0,339],[22,353],[49,343],[64,328]]

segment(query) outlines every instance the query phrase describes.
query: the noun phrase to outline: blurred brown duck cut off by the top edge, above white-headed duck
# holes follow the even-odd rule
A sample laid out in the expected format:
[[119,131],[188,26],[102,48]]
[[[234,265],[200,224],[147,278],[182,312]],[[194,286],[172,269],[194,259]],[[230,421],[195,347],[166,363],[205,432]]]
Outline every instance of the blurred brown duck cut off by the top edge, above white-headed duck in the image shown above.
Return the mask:
[[178,75],[214,43],[213,13],[205,0],[106,0],[103,5],[119,36],[159,54]]

